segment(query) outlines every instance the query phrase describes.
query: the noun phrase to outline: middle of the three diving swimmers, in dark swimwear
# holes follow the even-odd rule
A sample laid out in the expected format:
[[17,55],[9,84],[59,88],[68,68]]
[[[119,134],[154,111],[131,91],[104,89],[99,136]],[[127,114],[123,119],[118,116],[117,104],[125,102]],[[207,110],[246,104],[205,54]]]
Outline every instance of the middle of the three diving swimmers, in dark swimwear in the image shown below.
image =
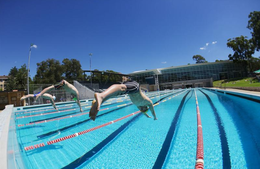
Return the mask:
[[41,93],[39,93],[36,96],[36,101],[43,96],[44,93],[47,93],[48,91],[50,91],[51,89],[61,89],[63,88],[64,90],[66,90],[68,93],[71,93],[73,95],[76,96],[76,103],[79,105],[80,107],[80,111],[83,112],[83,109],[81,108],[81,102],[80,102],[80,94],[78,92],[78,90],[69,82],[67,82],[66,80],[61,80],[55,84],[53,84],[52,86],[49,86],[47,88],[45,88]]

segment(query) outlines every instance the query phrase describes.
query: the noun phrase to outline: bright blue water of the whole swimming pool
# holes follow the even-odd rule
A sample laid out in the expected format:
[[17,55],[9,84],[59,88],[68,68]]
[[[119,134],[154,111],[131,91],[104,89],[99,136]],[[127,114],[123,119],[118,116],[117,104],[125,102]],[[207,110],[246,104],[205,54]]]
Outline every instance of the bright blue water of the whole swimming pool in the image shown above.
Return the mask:
[[[205,169],[260,168],[260,103],[205,89],[196,89],[204,139]],[[72,135],[138,111],[129,97],[106,101],[93,122],[79,115],[76,103],[32,107],[14,112],[15,129],[27,169],[192,169],[196,161],[195,90],[147,93],[158,120],[138,113],[111,125],[51,145]],[[174,97],[173,97],[174,96]],[[171,98],[171,99],[170,99]],[[164,101],[164,102],[163,102]],[[82,102],[84,113],[91,102]],[[120,105],[120,106],[118,106]],[[121,106],[122,105],[122,106]],[[55,113],[51,113],[55,112]],[[49,114],[48,114],[49,113]],[[39,116],[30,116],[36,115]],[[73,115],[79,115],[73,117]],[[148,114],[151,115],[150,111]],[[24,118],[17,118],[25,116]],[[56,118],[70,118],[25,125]],[[23,125],[18,127],[18,125]]]

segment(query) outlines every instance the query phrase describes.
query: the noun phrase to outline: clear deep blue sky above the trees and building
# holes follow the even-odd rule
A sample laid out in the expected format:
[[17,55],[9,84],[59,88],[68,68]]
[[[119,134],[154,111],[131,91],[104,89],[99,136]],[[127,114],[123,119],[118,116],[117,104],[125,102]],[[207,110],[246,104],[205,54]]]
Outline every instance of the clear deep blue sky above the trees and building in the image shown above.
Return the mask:
[[91,69],[122,73],[225,60],[252,11],[260,0],[0,0],[0,75],[28,64],[31,43],[31,77],[48,58],[89,70],[88,53]]

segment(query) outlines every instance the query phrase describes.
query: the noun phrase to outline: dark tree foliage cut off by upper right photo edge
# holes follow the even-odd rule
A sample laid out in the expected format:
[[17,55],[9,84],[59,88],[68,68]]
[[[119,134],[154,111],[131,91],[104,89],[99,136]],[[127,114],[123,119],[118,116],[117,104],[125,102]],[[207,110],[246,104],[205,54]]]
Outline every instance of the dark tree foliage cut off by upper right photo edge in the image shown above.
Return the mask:
[[247,28],[253,30],[252,41],[257,51],[260,50],[260,11],[250,12],[250,20],[248,21]]

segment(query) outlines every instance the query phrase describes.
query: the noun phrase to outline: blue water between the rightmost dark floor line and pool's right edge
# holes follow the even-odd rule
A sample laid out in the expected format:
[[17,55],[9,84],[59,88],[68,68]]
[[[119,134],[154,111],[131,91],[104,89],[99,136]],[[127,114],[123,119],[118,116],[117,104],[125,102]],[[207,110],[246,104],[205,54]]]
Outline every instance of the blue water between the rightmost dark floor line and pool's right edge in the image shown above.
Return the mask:
[[218,92],[206,91],[219,105],[232,168],[255,169],[260,166],[260,104]]

